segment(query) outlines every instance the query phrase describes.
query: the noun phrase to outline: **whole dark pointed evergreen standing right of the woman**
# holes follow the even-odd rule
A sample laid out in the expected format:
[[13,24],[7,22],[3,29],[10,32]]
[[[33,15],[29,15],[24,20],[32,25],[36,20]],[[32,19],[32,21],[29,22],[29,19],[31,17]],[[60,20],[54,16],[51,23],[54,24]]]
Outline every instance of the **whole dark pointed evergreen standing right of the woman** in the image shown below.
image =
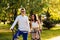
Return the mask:
[[[49,9],[48,9],[48,11],[49,11]],[[43,23],[44,23],[43,26],[50,29],[50,28],[54,27],[54,24],[50,20],[50,13],[48,11],[46,12],[46,17],[47,18],[43,21]]]

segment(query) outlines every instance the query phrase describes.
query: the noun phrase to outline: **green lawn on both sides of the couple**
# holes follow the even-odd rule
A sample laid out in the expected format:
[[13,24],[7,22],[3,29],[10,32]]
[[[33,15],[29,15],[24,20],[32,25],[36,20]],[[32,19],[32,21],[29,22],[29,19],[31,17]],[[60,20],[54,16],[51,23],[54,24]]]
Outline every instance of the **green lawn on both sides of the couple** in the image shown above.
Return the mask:
[[[5,25],[6,26],[6,25]],[[0,25],[1,27],[1,25]],[[9,27],[7,26],[8,29],[1,27],[0,30],[0,40],[11,40],[12,39],[12,32],[9,29]],[[56,27],[54,27],[56,29]],[[54,28],[52,28],[51,30],[43,30],[41,33],[41,39],[42,40],[46,40],[46,39],[50,39],[56,36],[60,36],[60,29],[56,29],[54,30]],[[57,27],[59,28],[59,27]],[[19,37],[20,40],[22,40],[22,36]],[[31,35],[28,36],[28,40],[31,39]]]

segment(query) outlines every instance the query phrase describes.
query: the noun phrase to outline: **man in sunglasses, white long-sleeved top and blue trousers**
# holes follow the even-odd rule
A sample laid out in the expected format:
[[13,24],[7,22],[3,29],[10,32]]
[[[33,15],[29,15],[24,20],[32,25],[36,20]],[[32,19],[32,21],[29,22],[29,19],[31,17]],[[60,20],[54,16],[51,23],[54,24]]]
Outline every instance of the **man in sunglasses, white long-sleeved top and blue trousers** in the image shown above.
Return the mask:
[[21,8],[21,15],[17,16],[10,30],[13,30],[14,26],[18,23],[18,31],[13,36],[13,40],[17,40],[17,37],[22,35],[23,40],[27,40],[28,32],[30,32],[29,20],[25,15],[25,9]]

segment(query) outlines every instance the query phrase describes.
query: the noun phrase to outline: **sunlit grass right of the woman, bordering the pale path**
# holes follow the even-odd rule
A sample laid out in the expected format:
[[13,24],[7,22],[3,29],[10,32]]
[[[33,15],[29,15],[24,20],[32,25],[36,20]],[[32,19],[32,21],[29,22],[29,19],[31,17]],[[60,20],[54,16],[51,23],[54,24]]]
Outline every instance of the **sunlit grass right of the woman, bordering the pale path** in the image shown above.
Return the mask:
[[57,30],[43,30],[42,31],[42,40],[60,36],[60,29]]

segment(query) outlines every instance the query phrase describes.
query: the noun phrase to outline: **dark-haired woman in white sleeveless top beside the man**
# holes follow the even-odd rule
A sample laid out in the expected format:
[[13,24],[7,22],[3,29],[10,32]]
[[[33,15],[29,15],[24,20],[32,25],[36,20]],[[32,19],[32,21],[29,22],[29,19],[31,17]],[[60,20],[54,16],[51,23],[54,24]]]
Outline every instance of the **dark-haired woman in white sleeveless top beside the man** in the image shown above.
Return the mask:
[[37,20],[35,14],[31,15],[30,27],[32,40],[40,40],[40,22]]

